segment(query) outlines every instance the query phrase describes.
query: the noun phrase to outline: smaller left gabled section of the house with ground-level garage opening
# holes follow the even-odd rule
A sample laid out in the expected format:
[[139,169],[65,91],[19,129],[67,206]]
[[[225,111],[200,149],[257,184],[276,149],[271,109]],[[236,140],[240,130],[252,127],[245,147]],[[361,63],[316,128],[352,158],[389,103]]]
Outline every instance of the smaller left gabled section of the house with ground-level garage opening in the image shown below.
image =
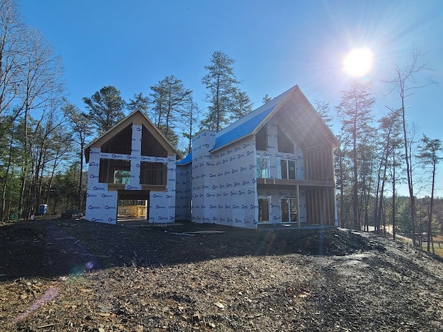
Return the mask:
[[149,201],[150,221],[174,221],[178,153],[143,113],[133,112],[85,151],[86,219],[116,223],[118,199],[136,199]]

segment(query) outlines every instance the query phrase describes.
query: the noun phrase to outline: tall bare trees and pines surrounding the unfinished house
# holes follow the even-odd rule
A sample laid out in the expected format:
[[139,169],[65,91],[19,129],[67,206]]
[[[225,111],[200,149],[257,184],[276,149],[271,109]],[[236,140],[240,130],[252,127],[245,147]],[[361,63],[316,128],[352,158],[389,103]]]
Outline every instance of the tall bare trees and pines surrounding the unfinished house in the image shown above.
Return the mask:
[[[234,64],[221,50],[202,64],[205,107],[174,75],[159,77],[129,100],[109,85],[75,105],[66,97],[62,59],[41,33],[21,20],[15,1],[1,0],[1,221],[30,219],[42,203],[48,214],[84,210],[84,147],[136,109],[186,156],[195,133],[219,131],[253,110]],[[427,242],[428,250],[431,234],[442,234],[443,198],[434,196],[442,141],[420,133],[406,113],[408,96],[435,84],[426,78],[431,69],[423,53],[412,48],[408,65],[398,67],[395,78],[386,82],[386,93],[397,96],[397,104],[386,106],[381,118],[374,118],[370,82],[350,82],[338,105],[314,102],[329,127],[339,122],[334,134],[341,147],[334,158],[342,228],[389,232],[394,238],[406,234],[419,246]],[[268,100],[265,95],[262,102]],[[401,186],[408,188],[407,196],[399,194]]]

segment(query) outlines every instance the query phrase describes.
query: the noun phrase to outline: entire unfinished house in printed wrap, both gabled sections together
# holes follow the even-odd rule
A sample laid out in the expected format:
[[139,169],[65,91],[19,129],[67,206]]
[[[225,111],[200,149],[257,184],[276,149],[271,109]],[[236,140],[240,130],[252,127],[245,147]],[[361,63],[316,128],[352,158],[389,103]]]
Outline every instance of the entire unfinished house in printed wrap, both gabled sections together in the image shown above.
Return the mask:
[[118,199],[145,199],[147,219],[243,228],[337,225],[338,141],[298,86],[177,151],[140,111],[86,149],[86,218],[116,223]]

